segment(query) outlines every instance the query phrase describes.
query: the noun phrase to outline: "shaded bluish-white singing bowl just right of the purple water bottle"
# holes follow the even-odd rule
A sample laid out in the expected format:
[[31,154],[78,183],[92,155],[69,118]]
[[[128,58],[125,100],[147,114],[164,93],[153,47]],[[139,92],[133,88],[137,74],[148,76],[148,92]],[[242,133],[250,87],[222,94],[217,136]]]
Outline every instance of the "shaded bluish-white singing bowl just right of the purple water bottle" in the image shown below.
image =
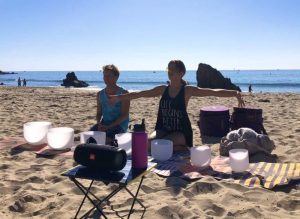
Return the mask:
[[158,161],[166,161],[173,155],[173,142],[166,139],[151,141],[151,156]]

